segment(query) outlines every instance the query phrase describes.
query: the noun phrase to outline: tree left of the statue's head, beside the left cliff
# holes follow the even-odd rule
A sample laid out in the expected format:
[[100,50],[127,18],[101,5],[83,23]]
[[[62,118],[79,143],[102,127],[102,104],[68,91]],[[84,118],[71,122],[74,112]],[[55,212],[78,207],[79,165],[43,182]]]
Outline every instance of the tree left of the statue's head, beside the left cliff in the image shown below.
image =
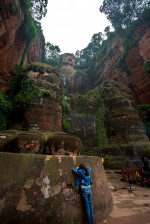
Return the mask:
[[60,61],[60,48],[50,42],[45,44],[45,61],[52,66],[58,66]]

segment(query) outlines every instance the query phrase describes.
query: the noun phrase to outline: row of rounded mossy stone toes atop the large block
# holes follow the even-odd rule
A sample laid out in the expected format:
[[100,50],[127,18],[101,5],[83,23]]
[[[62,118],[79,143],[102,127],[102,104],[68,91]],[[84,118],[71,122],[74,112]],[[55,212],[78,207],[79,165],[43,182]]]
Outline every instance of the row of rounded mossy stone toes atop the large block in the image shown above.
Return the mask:
[[41,132],[39,130],[0,132],[0,152],[80,155],[80,139],[64,132]]

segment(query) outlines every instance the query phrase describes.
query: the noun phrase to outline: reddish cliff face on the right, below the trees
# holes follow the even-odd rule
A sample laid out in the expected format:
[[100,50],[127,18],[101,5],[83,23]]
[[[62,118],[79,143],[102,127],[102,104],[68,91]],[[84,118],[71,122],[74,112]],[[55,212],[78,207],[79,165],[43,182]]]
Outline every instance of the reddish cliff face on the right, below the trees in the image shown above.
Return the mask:
[[128,40],[113,36],[97,55],[94,84],[118,81],[132,89],[137,104],[150,104],[150,74],[144,70],[144,62],[150,59],[150,22],[136,26],[130,35]]

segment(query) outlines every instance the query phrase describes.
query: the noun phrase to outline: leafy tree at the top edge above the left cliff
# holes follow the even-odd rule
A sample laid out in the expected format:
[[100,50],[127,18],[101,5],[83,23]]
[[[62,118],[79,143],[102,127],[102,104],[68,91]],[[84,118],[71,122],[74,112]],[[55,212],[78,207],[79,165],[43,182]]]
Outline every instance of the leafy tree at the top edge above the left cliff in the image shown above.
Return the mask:
[[41,20],[47,13],[48,0],[31,0],[31,13],[35,20]]

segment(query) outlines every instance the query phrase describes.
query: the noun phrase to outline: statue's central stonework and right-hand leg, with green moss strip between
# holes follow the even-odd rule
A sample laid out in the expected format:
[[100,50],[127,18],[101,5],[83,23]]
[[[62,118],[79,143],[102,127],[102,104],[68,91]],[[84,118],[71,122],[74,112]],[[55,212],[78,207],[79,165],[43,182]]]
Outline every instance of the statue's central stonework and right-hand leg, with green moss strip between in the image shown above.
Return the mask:
[[70,106],[68,122],[88,148],[149,142],[131,90],[116,81],[107,80],[86,96],[70,98]]

